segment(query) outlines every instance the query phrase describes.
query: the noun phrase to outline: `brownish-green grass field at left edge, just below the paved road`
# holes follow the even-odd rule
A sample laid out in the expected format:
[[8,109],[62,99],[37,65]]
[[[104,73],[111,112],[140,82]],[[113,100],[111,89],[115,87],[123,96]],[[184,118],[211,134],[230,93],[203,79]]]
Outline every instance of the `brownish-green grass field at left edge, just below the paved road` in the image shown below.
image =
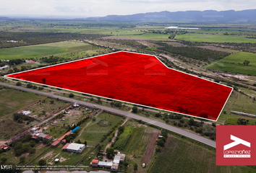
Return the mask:
[[22,92],[15,89],[1,89],[0,95],[1,119],[9,119],[10,115],[16,110],[20,110],[20,108],[44,98],[43,96],[32,92]]

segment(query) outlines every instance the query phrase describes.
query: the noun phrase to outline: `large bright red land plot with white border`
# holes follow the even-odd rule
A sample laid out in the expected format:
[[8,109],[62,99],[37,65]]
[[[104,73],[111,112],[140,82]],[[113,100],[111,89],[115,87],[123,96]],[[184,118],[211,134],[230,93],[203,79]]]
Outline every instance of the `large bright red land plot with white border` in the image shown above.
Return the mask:
[[184,115],[218,120],[232,88],[166,67],[155,56],[120,51],[7,75]]

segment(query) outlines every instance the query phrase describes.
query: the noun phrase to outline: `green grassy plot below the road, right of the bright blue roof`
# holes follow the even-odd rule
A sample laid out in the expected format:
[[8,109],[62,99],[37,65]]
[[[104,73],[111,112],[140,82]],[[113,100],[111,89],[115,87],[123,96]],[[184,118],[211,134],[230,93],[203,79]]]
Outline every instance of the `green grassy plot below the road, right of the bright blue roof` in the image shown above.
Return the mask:
[[[76,138],[76,141],[80,139],[82,142],[87,141],[88,146],[95,146],[100,143],[101,138],[119,123],[122,118],[123,117],[112,115],[107,112],[102,112],[96,117],[95,121],[92,121],[88,127],[85,128],[81,136]],[[99,123],[101,120],[106,120],[107,122],[103,125]]]

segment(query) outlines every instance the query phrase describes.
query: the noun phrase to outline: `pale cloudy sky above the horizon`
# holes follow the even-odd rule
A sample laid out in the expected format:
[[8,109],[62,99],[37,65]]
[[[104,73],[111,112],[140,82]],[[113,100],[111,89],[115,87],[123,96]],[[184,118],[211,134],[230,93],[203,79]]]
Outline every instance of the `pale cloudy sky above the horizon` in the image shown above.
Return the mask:
[[111,14],[256,9],[255,0],[0,0],[0,15],[103,17]]

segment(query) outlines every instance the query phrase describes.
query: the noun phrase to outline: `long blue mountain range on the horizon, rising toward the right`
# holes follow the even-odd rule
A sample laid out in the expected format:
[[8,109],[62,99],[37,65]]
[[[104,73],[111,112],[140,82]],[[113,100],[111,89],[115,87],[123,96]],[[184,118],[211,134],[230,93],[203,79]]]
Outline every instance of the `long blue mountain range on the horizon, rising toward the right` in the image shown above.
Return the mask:
[[106,17],[88,17],[90,21],[148,21],[148,20],[168,20],[168,21],[209,21],[209,22],[256,22],[256,9],[242,11],[186,11],[186,12],[149,12],[131,15],[108,15]]

